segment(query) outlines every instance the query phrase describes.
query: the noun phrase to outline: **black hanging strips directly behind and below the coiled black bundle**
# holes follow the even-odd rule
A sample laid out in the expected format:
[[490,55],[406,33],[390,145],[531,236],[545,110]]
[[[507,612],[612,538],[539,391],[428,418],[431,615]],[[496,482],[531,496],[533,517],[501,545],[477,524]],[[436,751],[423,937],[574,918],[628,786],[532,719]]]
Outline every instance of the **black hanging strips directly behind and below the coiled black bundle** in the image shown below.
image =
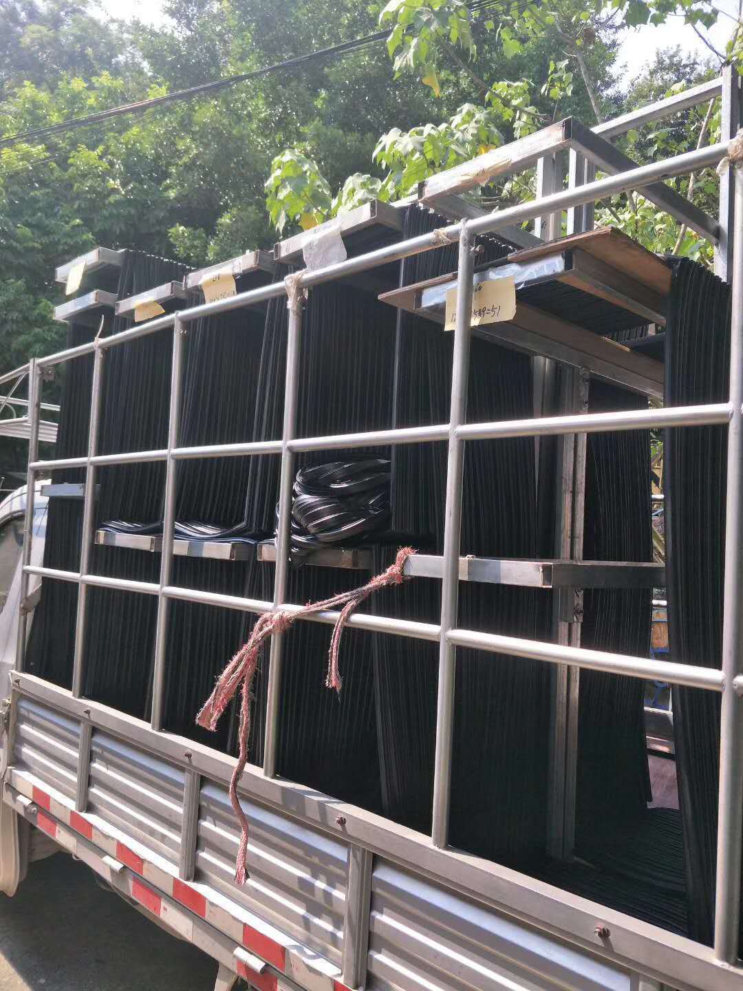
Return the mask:
[[[276,277],[283,277],[285,270]],[[270,300],[256,396],[256,440],[281,436],[287,332],[286,301]],[[395,311],[371,292],[345,284],[313,288],[304,310],[299,363],[297,436],[374,430],[392,425]],[[359,451],[322,451],[297,457],[300,480],[317,465],[354,462]],[[365,460],[388,458],[368,448]],[[248,525],[273,532],[280,459],[250,459]],[[317,480],[315,480],[317,481]],[[303,483],[300,483],[303,484]],[[292,555],[293,556],[293,555]],[[299,556],[301,563],[302,556]],[[272,565],[261,566],[261,598],[273,598]],[[298,567],[289,572],[287,599],[326,599],[369,580],[366,572]],[[333,795],[379,809],[371,634],[349,629],[342,651],[343,691],[325,687],[331,627],[296,623],[283,636],[278,772]],[[265,695],[265,651],[256,695]],[[251,759],[263,759],[264,710],[256,707]]]

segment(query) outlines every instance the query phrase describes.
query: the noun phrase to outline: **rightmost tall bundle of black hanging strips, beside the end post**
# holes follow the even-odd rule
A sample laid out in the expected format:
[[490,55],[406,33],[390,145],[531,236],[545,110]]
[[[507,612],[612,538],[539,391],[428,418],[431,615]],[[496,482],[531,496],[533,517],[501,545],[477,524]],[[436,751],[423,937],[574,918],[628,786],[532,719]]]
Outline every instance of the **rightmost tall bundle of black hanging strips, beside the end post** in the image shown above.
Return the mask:
[[[730,286],[687,261],[679,262],[673,274],[666,349],[667,405],[727,400]],[[671,657],[683,664],[719,668],[726,430],[668,430],[664,457]],[[675,687],[673,699],[690,936],[711,943],[720,697]]]

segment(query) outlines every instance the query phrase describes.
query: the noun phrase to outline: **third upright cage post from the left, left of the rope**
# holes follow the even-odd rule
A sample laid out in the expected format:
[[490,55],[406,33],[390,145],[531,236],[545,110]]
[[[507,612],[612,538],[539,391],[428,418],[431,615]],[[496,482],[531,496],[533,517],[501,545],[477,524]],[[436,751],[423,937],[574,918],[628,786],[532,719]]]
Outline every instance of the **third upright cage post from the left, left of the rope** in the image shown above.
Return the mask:
[[175,316],[170,366],[170,411],[167,424],[167,460],[165,462],[165,495],[162,507],[162,549],[159,563],[158,627],[155,635],[155,669],[153,673],[153,729],[162,728],[162,707],[165,686],[165,647],[167,641],[167,612],[169,601],[162,589],[170,584],[172,574],[172,544],[175,529],[175,492],[178,463],[172,456],[178,446],[180,433],[180,394],[182,389],[183,341],[185,327]]

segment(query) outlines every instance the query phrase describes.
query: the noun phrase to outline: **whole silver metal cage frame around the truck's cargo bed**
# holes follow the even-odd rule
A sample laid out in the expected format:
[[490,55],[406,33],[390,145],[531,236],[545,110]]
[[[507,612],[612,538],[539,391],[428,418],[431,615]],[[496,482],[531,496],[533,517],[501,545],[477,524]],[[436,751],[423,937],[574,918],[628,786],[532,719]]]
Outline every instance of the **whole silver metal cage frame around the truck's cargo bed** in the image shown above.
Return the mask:
[[[93,342],[70,348],[51,356],[32,360],[19,373],[28,371],[30,377],[30,445],[26,535],[23,549],[22,602],[28,595],[29,579],[41,575],[52,580],[78,585],[76,638],[72,689],[67,691],[24,671],[28,613],[21,610],[18,629],[17,671],[12,676],[12,692],[17,704],[20,698],[51,707],[66,718],[79,720],[80,732],[78,778],[74,808],[84,813],[88,808],[88,768],[91,762],[92,731],[111,733],[128,744],[170,761],[182,769],[183,820],[179,854],[179,876],[193,877],[195,833],[199,811],[200,781],[226,783],[235,766],[229,755],[162,730],[162,689],[166,648],[167,610],[173,599],[263,613],[275,606],[291,611],[300,606],[286,604],[286,577],[289,550],[289,517],[291,487],[294,477],[295,454],[301,451],[364,448],[379,444],[412,444],[445,441],[448,446],[446,484],[446,519],[444,553],[433,565],[442,578],[441,618],[438,624],[422,623],[390,617],[357,613],[350,624],[359,629],[392,633],[439,643],[439,681],[434,776],[434,806],[432,835],[426,836],[404,826],[397,826],[357,807],[330,797],[318,795],[311,789],[276,777],[276,742],[280,697],[282,642],[274,635],[270,647],[270,668],[265,728],[265,764],[263,769],[249,766],[240,783],[241,793],[252,802],[279,811],[290,819],[320,832],[339,836],[348,844],[349,870],[347,878],[347,913],[344,924],[342,967],[343,979],[351,987],[363,985],[367,972],[367,943],[371,906],[372,854],[392,862],[404,870],[415,872],[427,882],[438,883],[444,889],[458,892],[479,905],[495,909],[568,943],[589,950],[594,956],[646,975],[634,986],[657,987],[657,982],[678,988],[704,988],[708,991],[738,988],[743,991],[743,966],[737,956],[738,925],[741,894],[741,837],[743,834],[743,616],[739,608],[743,594],[743,167],[729,167],[721,179],[719,223],[696,208],[684,205],[663,179],[689,173],[707,166],[718,165],[727,153],[729,140],[740,125],[739,80],[726,67],[721,78],[694,87],[686,93],[660,101],[651,107],[625,115],[613,122],[594,128],[573,128],[566,137],[565,129],[552,126],[525,143],[514,143],[508,149],[488,153],[501,161],[510,153],[507,166],[496,169],[516,171],[541,161],[539,166],[538,198],[493,213],[478,213],[465,205],[465,219],[442,231],[425,234],[408,241],[397,242],[324,269],[302,270],[283,282],[260,286],[234,297],[192,306],[133,327],[113,337],[97,337]],[[612,137],[630,127],[657,120],[695,103],[722,95],[722,141],[708,148],[668,159],[660,163],[629,167],[628,160],[618,153],[607,153],[611,146],[600,136]],[[559,133],[558,133],[559,132]],[[576,138],[578,134],[578,138]],[[524,145],[523,150],[521,145]],[[562,188],[561,169],[555,156],[570,150],[570,185]],[[600,161],[597,161],[602,156]],[[487,159],[488,156],[481,157]],[[479,167],[481,165],[481,167]],[[501,162],[502,165],[502,162]],[[622,168],[618,174],[596,180],[595,166]],[[629,165],[633,165],[629,163]],[[421,200],[436,206],[437,196],[451,209],[453,197],[467,185],[473,174],[487,171],[489,165],[476,160],[473,167],[460,167],[451,177],[437,177],[428,194]],[[463,174],[465,185],[463,186]],[[476,177],[476,181],[477,181]],[[648,189],[650,187],[650,189]],[[582,408],[584,391],[580,370],[576,370],[571,394],[565,396],[567,410],[557,415],[535,415],[534,419],[467,423],[467,382],[472,328],[470,326],[473,288],[473,247],[478,234],[513,229],[527,220],[539,220],[538,231],[554,236],[554,218],[562,211],[569,214],[569,231],[592,226],[592,208],[601,197],[633,189],[647,191],[651,198],[661,199],[691,227],[701,229],[714,245],[717,272],[732,280],[732,328],[730,349],[730,393],[726,403],[624,411],[603,414],[576,412]],[[666,190],[664,192],[664,190]],[[422,191],[423,192],[423,191]],[[475,215],[474,215],[475,214]],[[732,221],[737,217],[737,224]],[[546,218],[546,219],[545,219]],[[552,218],[552,219],[550,219]],[[734,233],[733,233],[734,232]],[[366,433],[327,437],[298,438],[295,435],[296,401],[301,364],[303,299],[313,286],[336,278],[368,272],[376,267],[399,261],[419,252],[439,247],[445,241],[459,241],[458,312],[454,336],[454,364],[451,390],[451,414],[447,423],[415,428],[377,430]],[[202,317],[215,316],[230,310],[270,298],[286,295],[289,309],[286,351],[286,379],[283,430],[280,439],[185,448],[179,446],[179,419],[182,387],[183,337],[189,323]],[[97,454],[100,416],[101,384],[105,356],[110,348],[135,344],[150,334],[165,332],[173,335],[169,428],[167,447],[157,451],[101,456]],[[88,453],[86,457],[64,460],[40,460],[41,393],[43,378],[53,366],[84,355],[93,356]],[[14,375],[3,376],[0,382]],[[535,411],[537,414],[539,411]],[[563,458],[569,474],[578,488],[576,505],[581,505],[580,475],[575,466],[584,459],[585,435],[588,432],[636,430],[649,426],[676,428],[719,424],[728,430],[728,472],[726,495],[726,547],[724,573],[723,658],[721,669],[663,662],[642,657],[604,653],[581,648],[570,622],[561,622],[557,642],[541,642],[461,629],[458,626],[457,593],[461,580],[460,526],[462,515],[462,474],[465,442],[478,439],[515,436],[553,436],[568,438]],[[173,557],[174,505],[177,470],[181,461],[189,458],[239,457],[275,454],[281,459],[279,489],[279,526],[275,550],[275,582],[272,602],[260,602],[177,588],[171,584]],[[567,459],[567,460],[566,460]],[[90,553],[94,542],[94,493],[98,465],[131,464],[162,461],[165,463],[164,521],[161,538],[161,564],[158,583],[104,578],[90,573]],[[40,473],[57,468],[83,467],[86,471],[83,505],[83,531],[80,568],[78,572],[63,572],[31,565],[31,530],[34,519],[34,481]],[[573,497],[571,489],[571,497]],[[580,563],[581,548],[577,546],[574,528],[578,525],[575,508],[565,514],[561,540],[567,553]],[[158,600],[158,625],[155,645],[154,697],[151,723],[126,716],[100,703],[81,697],[83,665],[85,662],[85,615],[87,589],[91,586],[119,589],[133,594],[155,596]],[[334,623],[336,612],[324,612],[307,617],[311,621]],[[697,944],[690,939],[639,922],[629,916],[597,906],[584,898],[536,881],[525,874],[501,867],[481,857],[463,853],[448,846],[448,819],[451,785],[452,731],[454,715],[454,673],[457,647],[474,647],[493,654],[508,654],[543,660],[557,666],[566,676],[564,691],[570,695],[568,675],[581,668],[657,678],[677,685],[721,693],[722,719],[720,735],[719,828],[717,850],[717,882],[715,895],[714,947]],[[497,663],[493,658],[493,663]],[[17,705],[16,705],[17,708]],[[568,710],[564,711],[565,713]],[[566,734],[569,729],[564,726]],[[11,736],[13,729],[11,728]],[[567,737],[566,737],[567,738]],[[6,787],[16,787],[13,777],[12,740],[6,744],[4,761],[8,774]],[[8,767],[10,764],[10,767]],[[565,772],[569,776],[569,771]],[[10,777],[8,777],[8,775]],[[564,796],[569,783],[564,782]],[[13,791],[13,796],[16,792]],[[11,796],[13,801],[16,799]],[[16,806],[18,807],[17,803]],[[21,807],[28,808],[21,803]],[[564,840],[561,839],[561,842]],[[377,885],[381,883],[376,882]]]

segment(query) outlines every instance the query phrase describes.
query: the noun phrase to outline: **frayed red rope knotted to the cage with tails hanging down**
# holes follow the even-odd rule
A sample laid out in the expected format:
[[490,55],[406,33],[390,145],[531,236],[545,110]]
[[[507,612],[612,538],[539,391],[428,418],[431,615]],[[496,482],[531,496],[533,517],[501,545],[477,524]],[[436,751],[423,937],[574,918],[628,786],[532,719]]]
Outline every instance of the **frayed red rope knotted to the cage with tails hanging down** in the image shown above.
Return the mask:
[[230,663],[217,679],[214,691],[201,708],[196,722],[205,729],[215,729],[220,716],[229,706],[238,688],[241,688],[240,700],[240,730],[239,743],[240,750],[238,762],[235,765],[232,779],[230,781],[230,802],[235,811],[235,815],[241,826],[240,847],[238,849],[237,862],[235,864],[235,880],[238,884],[245,884],[248,874],[248,818],[243,812],[243,808],[238,800],[238,783],[243,776],[243,771],[248,763],[248,742],[251,733],[251,688],[258,668],[258,659],[261,647],[272,633],[281,633],[287,629],[296,619],[303,619],[317,612],[326,609],[341,608],[336,624],[333,628],[333,635],[330,640],[330,651],[328,654],[328,674],[325,679],[327,688],[341,691],[341,675],[338,669],[338,651],[341,645],[341,635],[344,626],[354,610],[360,606],[365,599],[369,599],[373,592],[383,589],[387,585],[400,585],[403,581],[403,568],[405,562],[414,554],[411,547],[401,547],[397,551],[394,564],[390,565],[386,571],[376,575],[363,585],[360,589],[351,589],[349,592],[342,592],[330,599],[325,599],[319,603],[308,603],[291,612],[285,609],[273,609],[265,612],[257,620],[250,637],[235,654]]

